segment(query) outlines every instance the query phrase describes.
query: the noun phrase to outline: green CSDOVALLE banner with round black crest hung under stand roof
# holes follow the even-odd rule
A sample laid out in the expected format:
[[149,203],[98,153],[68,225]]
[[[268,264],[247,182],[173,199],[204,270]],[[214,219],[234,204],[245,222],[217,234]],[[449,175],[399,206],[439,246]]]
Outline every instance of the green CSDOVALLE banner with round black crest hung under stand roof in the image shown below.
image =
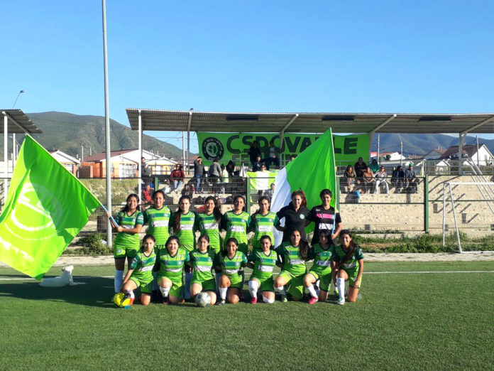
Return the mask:
[[[281,163],[290,161],[290,155],[301,154],[304,149],[316,141],[322,134],[295,134],[285,133],[280,149],[279,133],[209,133],[197,132],[199,141],[199,154],[204,158],[204,164],[210,165],[214,158],[219,158],[221,163],[234,161],[250,163],[248,149],[253,141],[259,144],[262,158],[269,157],[270,141],[275,142],[275,147],[280,149],[277,154]],[[369,156],[369,134],[333,135],[334,154],[337,165],[353,165],[358,157],[366,160]]]

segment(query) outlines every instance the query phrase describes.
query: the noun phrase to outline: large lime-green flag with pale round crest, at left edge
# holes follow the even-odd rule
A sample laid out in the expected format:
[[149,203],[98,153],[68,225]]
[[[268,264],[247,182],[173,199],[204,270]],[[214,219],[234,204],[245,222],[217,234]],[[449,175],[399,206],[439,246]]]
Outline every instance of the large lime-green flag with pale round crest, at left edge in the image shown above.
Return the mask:
[[26,135],[0,215],[0,261],[41,279],[100,205],[70,171]]

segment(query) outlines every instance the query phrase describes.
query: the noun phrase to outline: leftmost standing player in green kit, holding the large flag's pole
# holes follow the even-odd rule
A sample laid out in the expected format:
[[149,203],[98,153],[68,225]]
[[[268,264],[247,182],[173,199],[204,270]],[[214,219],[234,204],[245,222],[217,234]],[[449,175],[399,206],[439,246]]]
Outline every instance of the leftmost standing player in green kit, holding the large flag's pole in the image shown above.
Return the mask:
[[[106,213],[108,217],[110,213]],[[125,257],[130,267],[131,259],[136,256],[139,250],[139,233],[143,229],[143,213],[139,208],[139,196],[135,193],[127,196],[125,207],[116,216],[115,224],[110,219],[111,227],[118,232],[114,241],[115,257],[115,293],[120,292],[122,280],[124,279]]]

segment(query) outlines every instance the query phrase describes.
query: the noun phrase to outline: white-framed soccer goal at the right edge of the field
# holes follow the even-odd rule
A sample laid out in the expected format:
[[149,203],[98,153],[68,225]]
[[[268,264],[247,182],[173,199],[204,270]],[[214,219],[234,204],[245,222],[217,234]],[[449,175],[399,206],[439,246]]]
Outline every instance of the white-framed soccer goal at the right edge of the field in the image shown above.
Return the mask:
[[[475,179],[474,179],[475,180]],[[465,230],[494,230],[494,183],[493,182],[445,182],[442,208],[442,244],[456,235],[457,252],[481,253],[469,246],[466,251]],[[454,232],[452,231],[454,225]],[[451,241],[450,241],[451,242]]]

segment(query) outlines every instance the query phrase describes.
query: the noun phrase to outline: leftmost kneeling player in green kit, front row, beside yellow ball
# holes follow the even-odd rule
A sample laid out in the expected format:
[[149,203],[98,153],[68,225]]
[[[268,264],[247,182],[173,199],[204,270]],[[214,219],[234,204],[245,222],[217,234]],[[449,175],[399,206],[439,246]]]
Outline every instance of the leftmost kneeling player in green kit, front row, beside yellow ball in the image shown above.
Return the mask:
[[124,294],[130,294],[133,298],[133,291],[141,287],[141,303],[144,306],[149,305],[151,301],[152,270],[156,262],[154,247],[155,238],[152,235],[144,236],[141,251],[137,252],[136,256],[133,257],[125,275],[124,283],[121,286],[121,290],[119,290]]

